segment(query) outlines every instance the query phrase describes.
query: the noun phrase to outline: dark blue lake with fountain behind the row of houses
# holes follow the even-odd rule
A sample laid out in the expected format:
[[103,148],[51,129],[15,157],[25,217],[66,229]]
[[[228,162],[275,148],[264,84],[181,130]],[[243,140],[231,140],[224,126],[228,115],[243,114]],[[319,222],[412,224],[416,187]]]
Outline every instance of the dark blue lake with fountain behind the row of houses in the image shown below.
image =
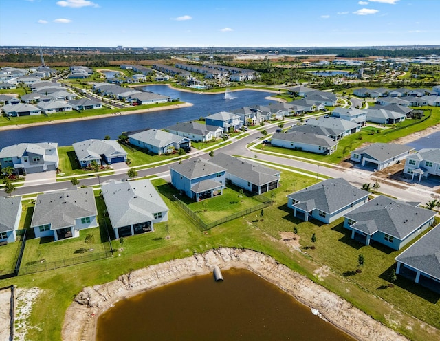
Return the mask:
[[69,146],[89,138],[103,139],[109,135],[115,140],[124,131],[136,131],[146,128],[163,129],[177,122],[197,120],[201,116],[219,111],[230,111],[248,105],[274,103],[265,100],[270,93],[264,91],[243,90],[234,92],[234,98],[225,98],[222,94],[201,94],[179,91],[166,85],[143,87],[145,91],[179,98],[190,102],[192,107],[137,113],[133,115],[114,115],[96,120],[78,120],[58,124],[45,124],[23,129],[0,131],[0,149],[21,142],[58,142],[59,146]]

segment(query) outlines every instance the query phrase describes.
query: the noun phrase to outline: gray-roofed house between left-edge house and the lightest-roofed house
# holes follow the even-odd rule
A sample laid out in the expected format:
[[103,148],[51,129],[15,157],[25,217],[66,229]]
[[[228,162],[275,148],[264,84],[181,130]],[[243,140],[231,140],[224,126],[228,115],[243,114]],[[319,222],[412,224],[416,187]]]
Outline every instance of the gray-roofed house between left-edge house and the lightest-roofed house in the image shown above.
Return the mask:
[[98,226],[93,188],[76,188],[36,197],[31,228],[35,237],[54,241],[80,236],[80,230]]

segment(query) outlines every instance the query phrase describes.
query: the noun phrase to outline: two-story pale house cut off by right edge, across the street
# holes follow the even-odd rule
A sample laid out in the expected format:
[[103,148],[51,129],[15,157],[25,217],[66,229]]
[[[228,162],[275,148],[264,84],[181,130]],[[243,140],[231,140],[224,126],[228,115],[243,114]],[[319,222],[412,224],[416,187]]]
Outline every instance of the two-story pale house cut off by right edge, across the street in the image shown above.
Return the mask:
[[414,177],[427,178],[430,175],[440,176],[440,149],[425,148],[406,157],[404,173]]

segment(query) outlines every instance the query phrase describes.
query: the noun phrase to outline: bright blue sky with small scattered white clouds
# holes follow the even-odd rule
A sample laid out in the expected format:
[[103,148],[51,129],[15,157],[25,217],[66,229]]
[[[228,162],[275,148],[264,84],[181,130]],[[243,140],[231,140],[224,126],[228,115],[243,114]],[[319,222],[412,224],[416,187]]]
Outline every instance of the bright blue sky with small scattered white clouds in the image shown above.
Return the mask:
[[440,45],[440,0],[0,0],[0,45]]

